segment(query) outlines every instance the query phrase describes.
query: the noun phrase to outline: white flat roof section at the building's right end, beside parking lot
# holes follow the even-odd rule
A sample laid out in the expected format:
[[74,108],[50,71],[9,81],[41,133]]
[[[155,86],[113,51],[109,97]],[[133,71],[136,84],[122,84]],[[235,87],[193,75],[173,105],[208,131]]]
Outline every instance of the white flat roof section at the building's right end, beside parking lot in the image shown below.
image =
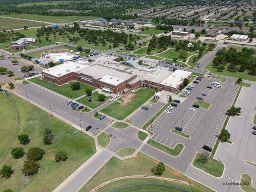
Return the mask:
[[169,77],[167,77],[165,80],[163,80],[160,84],[176,88],[190,74],[192,74],[192,72],[186,72],[178,69],[175,72],[173,72]]

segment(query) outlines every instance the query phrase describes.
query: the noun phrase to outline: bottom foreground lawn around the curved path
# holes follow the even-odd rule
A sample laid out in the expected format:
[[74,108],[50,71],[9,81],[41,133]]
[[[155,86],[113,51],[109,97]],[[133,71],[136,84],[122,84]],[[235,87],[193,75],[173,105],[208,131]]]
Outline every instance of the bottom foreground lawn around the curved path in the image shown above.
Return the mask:
[[[157,161],[153,158],[146,156],[143,153],[138,153],[138,156],[136,158],[129,158],[125,160],[119,160],[116,157],[112,157],[93,177],[91,180],[89,180],[85,186],[83,186],[80,190],[80,192],[90,192],[92,189],[100,185],[101,183],[104,183],[108,180],[112,180],[118,177],[123,176],[129,176],[129,175],[151,175],[153,176],[153,173],[151,172],[151,168],[155,165],[157,165]],[[165,166],[165,172],[162,176],[165,178],[172,178],[177,180],[185,180],[193,185],[187,186],[184,184],[179,184],[180,188],[188,189],[189,192],[212,192],[212,190],[208,189],[207,187],[203,186],[202,184],[197,183],[196,181],[184,176],[182,173],[175,171],[172,168],[169,168]],[[134,185],[136,181],[139,181],[140,183],[150,182],[150,183],[159,183],[162,182],[160,180],[152,180],[144,179],[133,179],[131,180],[130,184]],[[127,182],[125,180],[120,180],[117,182],[110,183],[109,185],[106,185],[102,188],[99,188],[97,192],[110,192],[118,189],[122,186],[122,184],[126,184]],[[170,185],[176,185],[178,183],[170,182]],[[126,184],[128,185],[128,184]],[[190,188],[186,188],[190,187]],[[151,191],[154,190],[155,191]],[[161,190],[158,190],[158,186],[154,187],[154,189],[151,187],[151,189],[146,189],[147,192],[159,192]],[[136,189],[130,189],[129,192],[145,192],[145,190],[137,191]],[[122,191],[123,192],[123,191]],[[127,191],[125,191],[127,192]],[[171,192],[170,190],[167,190],[166,192]],[[177,191],[176,192],[182,192]]]

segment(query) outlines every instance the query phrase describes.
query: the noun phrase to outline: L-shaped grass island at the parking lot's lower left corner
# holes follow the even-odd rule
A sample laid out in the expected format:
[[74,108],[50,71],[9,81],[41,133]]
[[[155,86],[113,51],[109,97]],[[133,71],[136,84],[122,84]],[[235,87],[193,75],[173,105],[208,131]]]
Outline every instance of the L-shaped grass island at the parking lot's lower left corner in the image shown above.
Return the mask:
[[182,151],[182,149],[184,147],[183,144],[177,144],[174,147],[174,149],[172,149],[171,147],[168,147],[168,146],[166,146],[164,144],[161,144],[161,143],[159,143],[159,142],[157,142],[157,141],[155,141],[153,139],[149,139],[147,141],[147,144],[150,144],[150,145],[158,148],[159,150],[161,150],[161,151],[163,151],[165,153],[170,154],[171,156],[178,156],[178,155],[180,155],[180,153],[181,153],[181,151]]

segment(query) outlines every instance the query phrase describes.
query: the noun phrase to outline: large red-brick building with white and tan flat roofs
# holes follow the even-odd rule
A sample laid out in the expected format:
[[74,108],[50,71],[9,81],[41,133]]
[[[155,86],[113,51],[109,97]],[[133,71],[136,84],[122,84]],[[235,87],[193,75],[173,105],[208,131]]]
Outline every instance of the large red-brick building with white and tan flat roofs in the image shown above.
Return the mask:
[[67,61],[42,71],[44,80],[57,85],[75,80],[113,94],[126,93],[138,87],[175,93],[183,80],[191,76],[192,72],[173,72],[170,68],[160,66],[147,69],[134,60],[119,62],[118,57],[106,55],[91,61]]

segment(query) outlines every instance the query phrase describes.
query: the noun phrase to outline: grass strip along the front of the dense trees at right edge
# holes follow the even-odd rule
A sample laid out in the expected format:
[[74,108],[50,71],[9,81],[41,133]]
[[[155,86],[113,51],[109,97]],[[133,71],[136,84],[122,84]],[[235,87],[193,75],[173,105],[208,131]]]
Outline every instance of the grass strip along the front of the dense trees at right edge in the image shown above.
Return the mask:
[[225,66],[225,69],[223,70],[223,72],[219,72],[215,67],[212,66],[212,61],[211,61],[206,66],[206,69],[209,70],[210,73],[215,73],[215,74],[234,77],[234,78],[242,77],[245,80],[256,81],[256,76],[248,74],[247,70],[245,70],[244,72],[230,72],[230,71],[227,71],[228,65],[224,65],[224,66]]

